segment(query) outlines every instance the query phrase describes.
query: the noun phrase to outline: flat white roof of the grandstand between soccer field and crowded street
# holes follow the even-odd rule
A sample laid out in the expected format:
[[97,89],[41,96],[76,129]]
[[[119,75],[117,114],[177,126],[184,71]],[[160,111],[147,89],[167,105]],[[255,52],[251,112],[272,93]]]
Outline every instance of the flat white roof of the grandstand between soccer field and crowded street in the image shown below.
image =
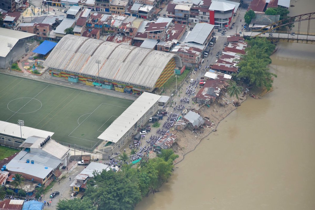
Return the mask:
[[98,139],[116,143],[134,126],[161,96],[144,92],[99,136]]

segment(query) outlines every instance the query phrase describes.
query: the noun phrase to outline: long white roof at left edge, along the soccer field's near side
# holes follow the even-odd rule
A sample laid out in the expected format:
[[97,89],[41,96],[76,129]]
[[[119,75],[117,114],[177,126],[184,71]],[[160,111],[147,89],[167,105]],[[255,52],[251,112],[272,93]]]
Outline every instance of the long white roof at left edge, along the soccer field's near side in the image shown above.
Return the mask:
[[[45,137],[45,138],[49,135],[50,136],[54,135],[54,132],[39,130],[36,128],[27,127],[27,126],[22,126],[21,130],[22,130],[23,139],[27,139],[28,137],[33,136],[33,135]],[[5,122],[5,121],[0,121],[0,133],[4,135],[11,135],[11,136],[20,138],[21,137],[20,125]]]

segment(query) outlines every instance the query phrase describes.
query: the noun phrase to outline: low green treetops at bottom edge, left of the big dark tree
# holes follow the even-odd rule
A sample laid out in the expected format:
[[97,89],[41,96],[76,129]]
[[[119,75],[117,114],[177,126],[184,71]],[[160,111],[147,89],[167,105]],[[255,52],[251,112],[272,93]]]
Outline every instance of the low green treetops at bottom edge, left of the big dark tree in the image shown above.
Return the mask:
[[84,198],[81,199],[64,199],[60,200],[57,204],[57,210],[97,210],[97,207],[93,205],[93,203]]

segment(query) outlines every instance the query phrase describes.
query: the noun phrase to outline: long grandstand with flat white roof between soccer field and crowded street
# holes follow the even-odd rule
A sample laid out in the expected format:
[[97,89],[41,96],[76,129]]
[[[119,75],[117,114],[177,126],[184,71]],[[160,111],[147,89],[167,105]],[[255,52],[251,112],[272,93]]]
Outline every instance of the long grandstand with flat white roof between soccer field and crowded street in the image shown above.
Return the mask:
[[[139,129],[157,112],[158,100],[160,98],[161,96],[152,93],[142,93],[141,96],[98,137],[98,139],[104,140],[100,144],[99,150],[105,153],[105,157],[117,152],[120,146],[124,146],[138,133]],[[107,142],[112,143],[107,144]]]

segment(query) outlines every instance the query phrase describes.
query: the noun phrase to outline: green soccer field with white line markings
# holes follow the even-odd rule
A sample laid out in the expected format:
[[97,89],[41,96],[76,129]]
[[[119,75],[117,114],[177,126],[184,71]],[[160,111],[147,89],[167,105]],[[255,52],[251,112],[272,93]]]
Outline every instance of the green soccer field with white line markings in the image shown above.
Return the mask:
[[133,101],[0,74],[0,120],[52,131],[53,139],[91,148]]

